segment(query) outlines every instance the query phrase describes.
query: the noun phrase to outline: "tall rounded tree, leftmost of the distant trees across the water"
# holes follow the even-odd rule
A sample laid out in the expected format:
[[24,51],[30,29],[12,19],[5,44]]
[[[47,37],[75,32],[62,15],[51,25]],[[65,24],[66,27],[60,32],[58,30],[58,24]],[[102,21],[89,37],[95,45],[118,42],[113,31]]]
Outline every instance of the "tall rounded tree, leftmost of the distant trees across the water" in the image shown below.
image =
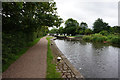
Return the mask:
[[69,35],[69,34],[72,34],[72,35],[75,35],[76,34],[76,29],[77,27],[79,26],[79,23],[72,19],[72,18],[69,18],[68,20],[66,20],[65,22],[65,32]]

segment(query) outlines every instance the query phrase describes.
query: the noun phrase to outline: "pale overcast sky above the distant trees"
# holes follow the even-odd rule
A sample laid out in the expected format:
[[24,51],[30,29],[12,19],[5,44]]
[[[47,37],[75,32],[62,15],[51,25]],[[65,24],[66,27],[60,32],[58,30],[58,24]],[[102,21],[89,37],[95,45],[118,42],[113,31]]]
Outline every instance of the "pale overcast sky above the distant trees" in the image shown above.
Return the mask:
[[[119,0],[54,0],[58,15],[66,21],[73,18],[86,22],[92,28],[96,19],[102,18],[110,26],[118,25]],[[63,24],[62,24],[63,25]]]

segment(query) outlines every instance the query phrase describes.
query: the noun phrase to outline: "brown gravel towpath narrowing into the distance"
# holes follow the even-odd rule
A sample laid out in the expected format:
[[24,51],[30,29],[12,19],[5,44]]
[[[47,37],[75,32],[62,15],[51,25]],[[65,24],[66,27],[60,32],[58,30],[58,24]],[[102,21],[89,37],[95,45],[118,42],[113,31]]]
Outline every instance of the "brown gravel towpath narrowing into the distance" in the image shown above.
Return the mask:
[[3,78],[45,78],[47,68],[46,37],[31,47],[3,74]]

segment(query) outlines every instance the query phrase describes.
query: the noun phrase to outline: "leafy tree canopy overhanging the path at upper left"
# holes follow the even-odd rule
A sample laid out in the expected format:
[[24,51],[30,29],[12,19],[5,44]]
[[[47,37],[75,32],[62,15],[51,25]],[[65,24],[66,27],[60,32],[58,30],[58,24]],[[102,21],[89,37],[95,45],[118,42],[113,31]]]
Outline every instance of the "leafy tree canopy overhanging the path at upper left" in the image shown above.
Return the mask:
[[59,27],[63,21],[56,10],[54,1],[3,3],[3,31],[8,33],[28,28],[35,30],[41,26]]

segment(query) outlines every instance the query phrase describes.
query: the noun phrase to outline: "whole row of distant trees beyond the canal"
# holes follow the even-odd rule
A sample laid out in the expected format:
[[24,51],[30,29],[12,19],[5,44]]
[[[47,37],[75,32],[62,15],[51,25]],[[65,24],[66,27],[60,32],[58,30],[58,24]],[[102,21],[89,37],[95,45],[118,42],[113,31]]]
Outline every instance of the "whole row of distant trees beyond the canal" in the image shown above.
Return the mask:
[[93,23],[93,29],[88,28],[86,22],[78,23],[77,20],[69,18],[65,21],[65,27],[53,28],[49,31],[51,34],[67,34],[67,35],[90,35],[95,33],[111,33],[111,34],[120,34],[119,26],[109,26],[108,23],[104,22],[102,19],[98,18]]

